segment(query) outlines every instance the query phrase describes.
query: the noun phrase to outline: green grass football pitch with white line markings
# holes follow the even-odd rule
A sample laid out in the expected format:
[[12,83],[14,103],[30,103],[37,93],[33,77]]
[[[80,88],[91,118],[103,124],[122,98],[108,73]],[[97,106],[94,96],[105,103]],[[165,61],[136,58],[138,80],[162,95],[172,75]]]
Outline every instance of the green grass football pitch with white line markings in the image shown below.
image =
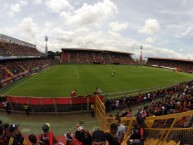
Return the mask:
[[[111,77],[113,71],[116,73]],[[0,90],[0,95],[67,97],[74,89],[78,90],[78,95],[93,94],[96,87],[103,93],[116,93],[163,87],[191,79],[191,74],[145,66],[57,65],[19,80]]]

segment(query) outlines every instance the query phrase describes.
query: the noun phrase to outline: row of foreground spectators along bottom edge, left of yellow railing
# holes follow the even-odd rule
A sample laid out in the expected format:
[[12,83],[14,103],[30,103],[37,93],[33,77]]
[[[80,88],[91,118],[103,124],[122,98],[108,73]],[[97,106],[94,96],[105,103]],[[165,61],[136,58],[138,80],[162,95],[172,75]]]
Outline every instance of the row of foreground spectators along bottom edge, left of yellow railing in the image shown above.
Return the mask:
[[82,124],[77,125],[77,130],[73,133],[64,133],[63,140],[58,140],[50,129],[50,124],[42,125],[42,134],[39,136],[29,134],[24,137],[17,124],[7,124],[0,122],[0,144],[1,145],[120,145],[123,142],[126,128],[120,123],[120,118],[116,118],[111,124],[110,130],[104,132],[95,129],[90,132],[84,129]]

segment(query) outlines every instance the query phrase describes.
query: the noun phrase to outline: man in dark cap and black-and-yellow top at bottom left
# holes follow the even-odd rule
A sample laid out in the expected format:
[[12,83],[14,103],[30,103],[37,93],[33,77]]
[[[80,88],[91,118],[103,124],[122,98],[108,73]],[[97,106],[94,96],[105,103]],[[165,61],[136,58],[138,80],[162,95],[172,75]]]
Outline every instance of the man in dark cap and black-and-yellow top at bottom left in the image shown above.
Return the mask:
[[10,139],[8,141],[8,145],[27,145],[26,140],[20,133],[18,129],[18,125],[10,124],[9,132],[11,133]]

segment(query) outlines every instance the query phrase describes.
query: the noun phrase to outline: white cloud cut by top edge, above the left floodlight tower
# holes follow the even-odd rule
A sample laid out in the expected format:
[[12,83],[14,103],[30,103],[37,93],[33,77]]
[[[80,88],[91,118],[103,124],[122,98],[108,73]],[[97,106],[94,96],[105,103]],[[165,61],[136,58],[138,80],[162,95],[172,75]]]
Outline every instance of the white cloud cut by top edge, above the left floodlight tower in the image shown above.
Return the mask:
[[64,9],[73,9],[67,0],[47,0],[46,5],[52,12],[59,13]]

